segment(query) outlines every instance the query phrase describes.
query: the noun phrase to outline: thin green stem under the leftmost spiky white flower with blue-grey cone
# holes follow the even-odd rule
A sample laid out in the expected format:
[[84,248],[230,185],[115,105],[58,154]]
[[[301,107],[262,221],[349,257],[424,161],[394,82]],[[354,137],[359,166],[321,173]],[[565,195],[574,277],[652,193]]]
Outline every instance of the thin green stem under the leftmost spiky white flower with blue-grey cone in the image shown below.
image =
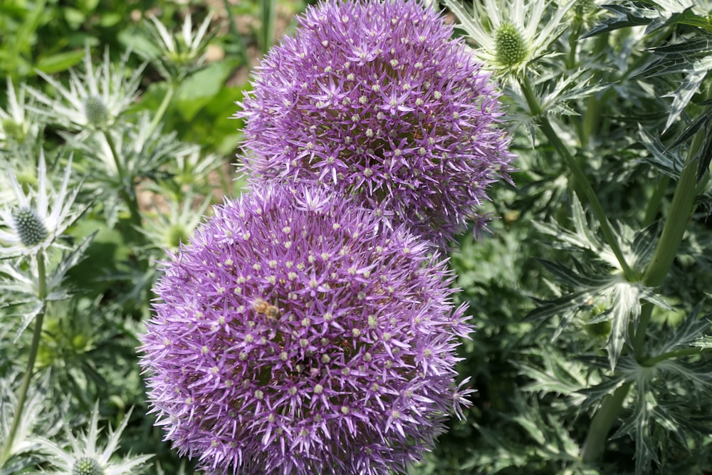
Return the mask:
[[12,426],[10,427],[10,432],[7,435],[7,440],[4,446],[0,450],[0,467],[3,466],[5,461],[9,459],[11,455],[12,444],[15,440],[17,429],[20,427],[22,421],[22,412],[25,406],[25,400],[27,399],[27,392],[30,388],[30,382],[32,380],[35,360],[37,359],[37,352],[40,347],[40,341],[42,337],[42,324],[44,321],[44,314],[46,308],[45,298],[47,297],[47,276],[46,268],[44,262],[44,253],[38,251],[35,256],[37,260],[37,298],[42,301],[42,309],[35,317],[35,328],[32,334],[32,343],[30,345],[30,353],[27,356],[27,366],[25,368],[25,374],[22,377],[22,382],[20,385],[20,392],[17,395],[17,404],[15,407],[15,414],[12,419]]

